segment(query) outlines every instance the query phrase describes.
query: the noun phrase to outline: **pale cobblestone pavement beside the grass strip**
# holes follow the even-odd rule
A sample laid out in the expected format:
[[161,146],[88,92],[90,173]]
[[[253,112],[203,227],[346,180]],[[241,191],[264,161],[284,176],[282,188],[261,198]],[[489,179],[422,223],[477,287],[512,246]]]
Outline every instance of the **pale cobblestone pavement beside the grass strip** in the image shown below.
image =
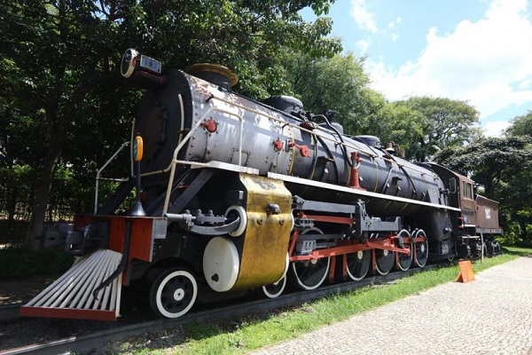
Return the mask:
[[[457,269],[458,270],[458,269]],[[520,257],[253,355],[532,355],[532,257]]]

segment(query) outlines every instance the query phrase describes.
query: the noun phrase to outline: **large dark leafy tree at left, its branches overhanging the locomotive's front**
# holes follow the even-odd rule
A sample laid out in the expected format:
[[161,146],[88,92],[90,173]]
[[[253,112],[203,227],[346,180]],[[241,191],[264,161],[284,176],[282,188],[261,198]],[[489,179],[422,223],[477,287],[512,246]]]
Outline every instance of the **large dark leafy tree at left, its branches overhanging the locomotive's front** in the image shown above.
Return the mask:
[[[10,110],[24,108],[39,136],[31,143],[26,138],[33,157],[30,164],[40,171],[28,244],[42,234],[59,165],[72,169],[74,179],[93,177],[103,157],[127,138],[124,126],[136,98],[121,87],[117,65],[125,49],[137,46],[176,67],[201,61],[224,64],[239,73],[239,91],[262,97],[284,85],[277,69],[284,48],[315,57],[340,51],[340,42],[326,37],[330,20],[308,23],[298,14],[306,6],[317,14],[326,13],[330,3],[2,2],[0,104]],[[2,141],[0,145],[8,147]],[[17,150],[6,155],[13,162],[23,161]]]

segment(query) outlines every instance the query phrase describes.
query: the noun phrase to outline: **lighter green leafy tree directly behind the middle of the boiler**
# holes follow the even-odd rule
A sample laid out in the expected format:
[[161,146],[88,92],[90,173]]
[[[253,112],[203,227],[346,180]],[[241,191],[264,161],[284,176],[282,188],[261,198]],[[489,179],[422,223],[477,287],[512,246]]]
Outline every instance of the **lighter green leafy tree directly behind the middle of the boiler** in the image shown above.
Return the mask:
[[419,113],[405,105],[390,104],[370,88],[364,72],[364,58],[353,53],[332,58],[313,59],[289,53],[284,60],[290,91],[309,110],[322,114],[338,112],[336,121],[348,135],[373,135],[383,144],[394,142],[403,149],[422,137]]

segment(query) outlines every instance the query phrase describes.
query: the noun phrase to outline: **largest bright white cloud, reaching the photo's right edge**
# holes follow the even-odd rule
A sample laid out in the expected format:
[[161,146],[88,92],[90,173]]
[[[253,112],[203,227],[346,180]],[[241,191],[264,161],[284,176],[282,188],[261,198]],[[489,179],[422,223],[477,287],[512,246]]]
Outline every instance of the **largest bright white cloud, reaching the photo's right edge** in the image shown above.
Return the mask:
[[373,87],[388,99],[431,95],[467,100],[481,118],[532,102],[532,23],[527,15],[526,0],[494,0],[483,19],[464,20],[453,33],[439,35],[438,28],[430,28],[415,61],[396,70],[366,61]]

